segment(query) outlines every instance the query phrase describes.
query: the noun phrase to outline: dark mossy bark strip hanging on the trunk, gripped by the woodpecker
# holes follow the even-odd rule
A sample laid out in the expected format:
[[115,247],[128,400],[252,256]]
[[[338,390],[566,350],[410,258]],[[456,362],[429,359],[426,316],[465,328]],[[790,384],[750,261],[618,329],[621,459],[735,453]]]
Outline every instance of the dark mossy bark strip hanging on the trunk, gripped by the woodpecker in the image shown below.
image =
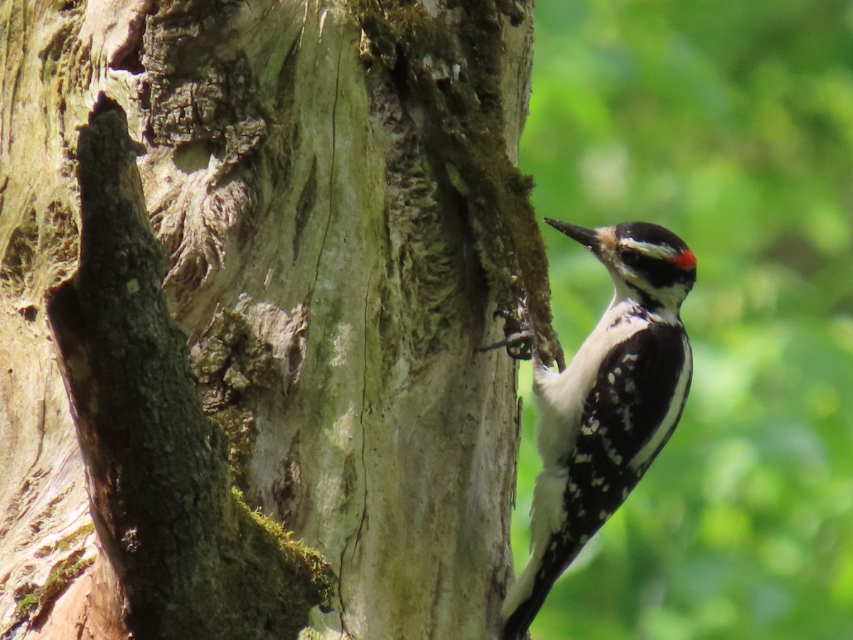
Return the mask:
[[546,350],[560,358],[551,328],[548,264],[530,202],[533,180],[514,166],[504,139],[502,30],[530,15],[510,0],[458,0],[432,16],[421,3],[357,0],[363,61],[380,64],[428,110],[432,164],[464,198],[479,259],[498,305],[527,299]]

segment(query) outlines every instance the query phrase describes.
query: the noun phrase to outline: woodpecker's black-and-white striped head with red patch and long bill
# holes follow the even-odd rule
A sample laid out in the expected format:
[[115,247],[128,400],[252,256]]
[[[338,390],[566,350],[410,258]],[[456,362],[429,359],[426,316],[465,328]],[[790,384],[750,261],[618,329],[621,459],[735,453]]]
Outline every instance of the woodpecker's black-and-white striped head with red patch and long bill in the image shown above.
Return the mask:
[[545,222],[589,248],[607,267],[619,298],[634,298],[649,310],[678,311],[696,282],[696,256],[684,241],[658,224],[624,222],[585,229]]

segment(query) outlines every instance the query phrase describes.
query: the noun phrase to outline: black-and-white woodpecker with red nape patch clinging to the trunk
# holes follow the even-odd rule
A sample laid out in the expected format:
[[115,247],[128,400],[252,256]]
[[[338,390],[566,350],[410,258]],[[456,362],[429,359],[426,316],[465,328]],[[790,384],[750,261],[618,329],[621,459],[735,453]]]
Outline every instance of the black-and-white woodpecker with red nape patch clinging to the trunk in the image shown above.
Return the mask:
[[646,473],[682,416],[693,374],[679,309],[696,257],[684,241],[657,224],[545,221],[601,260],[616,294],[560,373],[543,364],[533,338],[543,470],[531,560],[503,603],[504,640],[524,637],[554,581]]

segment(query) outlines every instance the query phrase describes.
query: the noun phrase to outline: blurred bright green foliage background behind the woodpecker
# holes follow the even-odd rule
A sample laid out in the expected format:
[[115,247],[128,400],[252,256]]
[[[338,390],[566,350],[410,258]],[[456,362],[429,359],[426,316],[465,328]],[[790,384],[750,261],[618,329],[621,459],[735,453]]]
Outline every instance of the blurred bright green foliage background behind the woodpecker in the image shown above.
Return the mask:
[[[534,640],[853,638],[853,3],[537,0],[521,166],[540,217],[699,258],[693,391]],[[543,225],[567,355],[612,295]],[[513,527],[539,470],[531,375]]]

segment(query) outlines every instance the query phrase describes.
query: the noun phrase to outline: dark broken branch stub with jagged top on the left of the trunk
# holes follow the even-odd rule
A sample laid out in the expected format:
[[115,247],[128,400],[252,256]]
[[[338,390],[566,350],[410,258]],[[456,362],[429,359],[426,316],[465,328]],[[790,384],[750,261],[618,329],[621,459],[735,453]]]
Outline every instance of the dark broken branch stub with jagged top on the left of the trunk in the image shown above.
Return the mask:
[[295,637],[322,602],[326,566],[230,490],[222,434],[160,288],[137,153],[102,96],[78,143],[78,276],[49,302],[96,531],[135,637]]

